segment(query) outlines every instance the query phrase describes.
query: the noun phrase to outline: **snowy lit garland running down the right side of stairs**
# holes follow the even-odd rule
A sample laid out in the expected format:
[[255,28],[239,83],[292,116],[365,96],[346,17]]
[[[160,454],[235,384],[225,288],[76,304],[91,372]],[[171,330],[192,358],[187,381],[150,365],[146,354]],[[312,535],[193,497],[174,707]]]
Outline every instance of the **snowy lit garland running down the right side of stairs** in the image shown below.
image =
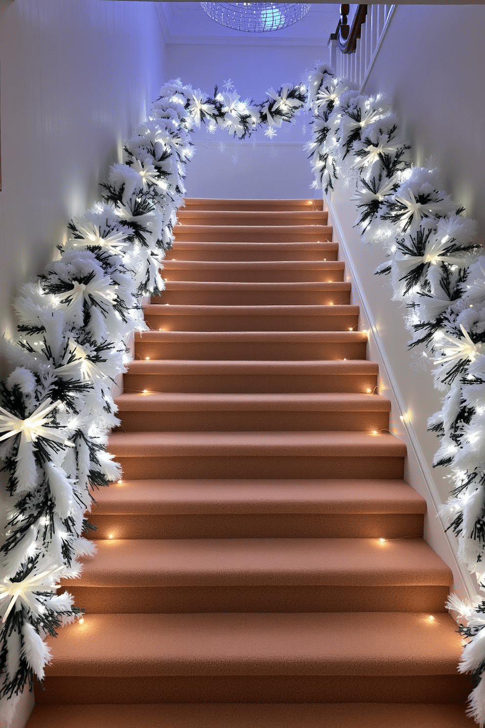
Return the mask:
[[[441,190],[435,171],[411,164],[398,119],[381,96],[320,66],[308,79],[313,113],[308,145],[315,189],[355,178],[356,226],[366,242],[381,242],[393,300],[409,311],[409,347],[422,345],[444,392],[441,411],[428,422],[441,438],[433,464],[449,467],[452,493],[441,515],[458,539],[458,558],[485,589],[485,257],[475,223]],[[485,597],[465,604],[449,599],[465,624],[460,671],[477,687],[470,715],[485,724]]]

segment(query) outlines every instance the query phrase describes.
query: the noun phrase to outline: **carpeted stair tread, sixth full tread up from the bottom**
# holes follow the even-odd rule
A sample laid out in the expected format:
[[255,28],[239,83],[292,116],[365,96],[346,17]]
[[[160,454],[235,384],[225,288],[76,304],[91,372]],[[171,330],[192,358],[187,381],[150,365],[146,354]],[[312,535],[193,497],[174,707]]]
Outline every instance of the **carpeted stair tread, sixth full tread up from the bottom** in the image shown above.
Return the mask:
[[[151,333],[151,332],[147,332]],[[157,333],[157,332],[155,332]],[[162,332],[164,333],[164,332]],[[193,333],[193,332],[188,332]],[[213,332],[211,332],[213,333]],[[220,332],[222,333],[222,332]],[[224,332],[227,333],[227,332]],[[245,332],[246,333],[246,332]],[[281,333],[281,332],[279,332]],[[301,333],[301,332],[300,332]],[[308,333],[308,332],[306,332]],[[313,333],[313,332],[312,332]],[[335,332],[332,332],[335,333]],[[143,338],[145,333],[143,334]],[[334,374],[369,374],[377,373],[378,365],[366,359],[349,360],[302,360],[302,361],[231,361],[231,360],[191,360],[191,359],[135,359],[128,364],[130,374],[135,373],[214,373],[235,374],[246,376],[249,374],[298,374],[323,373]]]

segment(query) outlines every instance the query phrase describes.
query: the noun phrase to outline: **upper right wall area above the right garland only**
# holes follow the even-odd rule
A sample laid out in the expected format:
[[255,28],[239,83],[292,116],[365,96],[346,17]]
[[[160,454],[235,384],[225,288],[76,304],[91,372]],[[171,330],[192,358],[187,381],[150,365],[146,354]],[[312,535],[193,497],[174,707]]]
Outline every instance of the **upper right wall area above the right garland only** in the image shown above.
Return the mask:
[[485,229],[485,5],[398,5],[364,92],[388,94],[412,143]]

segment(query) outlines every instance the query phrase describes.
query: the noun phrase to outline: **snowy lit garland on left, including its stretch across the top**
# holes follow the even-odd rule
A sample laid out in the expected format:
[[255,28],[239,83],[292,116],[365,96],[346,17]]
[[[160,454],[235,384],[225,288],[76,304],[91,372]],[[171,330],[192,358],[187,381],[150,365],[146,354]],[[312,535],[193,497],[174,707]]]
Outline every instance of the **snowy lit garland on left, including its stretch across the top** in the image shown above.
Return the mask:
[[[232,85],[232,84],[231,84]],[[0,713],[12,718],[20,692],[44,676],[45,634],[78,617],[60,579],[78,577],[95,546],[93,490],[121,477],[106,452],[119,423],[111,397],[129,360],[127,341],[145,331],[140,299],[164,288],[160,269],[183,205],[191,132],[201,122],[242,139],[292,122],[305,87],[268,100],[208,95],[169,82],[111,167],[97,202],[68,225],[68,240],[15,301],[17,340],[4,341],[12,373],[0,383],[0,458],[7,473],[6,536],[0,547]],[[1,524],[3,525],[3,524]]]

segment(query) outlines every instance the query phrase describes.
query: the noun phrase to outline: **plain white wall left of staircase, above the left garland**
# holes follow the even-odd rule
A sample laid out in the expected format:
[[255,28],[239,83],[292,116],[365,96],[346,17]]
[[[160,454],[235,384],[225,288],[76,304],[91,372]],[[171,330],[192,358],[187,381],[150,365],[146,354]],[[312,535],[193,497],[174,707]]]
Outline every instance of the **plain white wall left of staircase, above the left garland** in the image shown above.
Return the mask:
[[[100,199],[98,183],[166,80],[164,39],[151,2],[0,0],[0,63],[9,333],[12,296],[52,259],[70,218]],[[25,725],[32,700],[22,697],[12,728]]]

